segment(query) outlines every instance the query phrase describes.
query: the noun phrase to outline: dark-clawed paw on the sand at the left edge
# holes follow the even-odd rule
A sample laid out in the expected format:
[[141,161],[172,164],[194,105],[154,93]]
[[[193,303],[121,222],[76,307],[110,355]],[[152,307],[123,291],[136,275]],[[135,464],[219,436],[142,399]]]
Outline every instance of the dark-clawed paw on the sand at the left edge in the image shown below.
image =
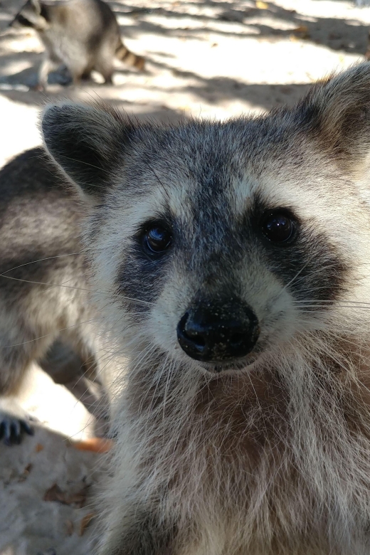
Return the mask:
[[14,398],[0,396],[0,441],[5,445],[18,445],[24,433],[33,435],[31,420]]

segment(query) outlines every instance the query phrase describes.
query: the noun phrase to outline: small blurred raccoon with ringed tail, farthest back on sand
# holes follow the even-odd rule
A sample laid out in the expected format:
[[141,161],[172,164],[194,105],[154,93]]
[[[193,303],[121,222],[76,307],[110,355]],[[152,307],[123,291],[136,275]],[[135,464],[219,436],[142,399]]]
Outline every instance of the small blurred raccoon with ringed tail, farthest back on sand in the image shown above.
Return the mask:
[[105,83],[112,83],[115,57],[144,69],[144,58],[122,43],[115,15],[102,0],[27,0],[10,26],[35,29],[45,46],[38,73],[40,90],[46,89],[48,74],[62,63],[73,83],[88,79],[92,70],[101,73]]

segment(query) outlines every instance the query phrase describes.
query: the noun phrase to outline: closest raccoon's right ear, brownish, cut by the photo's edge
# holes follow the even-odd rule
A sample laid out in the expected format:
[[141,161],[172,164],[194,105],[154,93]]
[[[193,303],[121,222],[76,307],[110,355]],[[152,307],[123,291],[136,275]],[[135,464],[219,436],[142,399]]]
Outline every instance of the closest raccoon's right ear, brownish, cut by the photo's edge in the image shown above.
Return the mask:
[[347,171],[363,168],[370,151],[370,64],[315,85],[297,107],[298,124]]

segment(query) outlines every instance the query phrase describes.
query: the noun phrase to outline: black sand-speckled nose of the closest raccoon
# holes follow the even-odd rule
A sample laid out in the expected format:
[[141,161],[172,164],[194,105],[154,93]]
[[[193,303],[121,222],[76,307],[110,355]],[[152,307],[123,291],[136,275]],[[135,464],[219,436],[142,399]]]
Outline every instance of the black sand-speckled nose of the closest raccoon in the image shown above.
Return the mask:
[[202,301],[177,326],[181,348],[192,359],[226,361],[248,354],[260,329],[253,310],[240,300]]

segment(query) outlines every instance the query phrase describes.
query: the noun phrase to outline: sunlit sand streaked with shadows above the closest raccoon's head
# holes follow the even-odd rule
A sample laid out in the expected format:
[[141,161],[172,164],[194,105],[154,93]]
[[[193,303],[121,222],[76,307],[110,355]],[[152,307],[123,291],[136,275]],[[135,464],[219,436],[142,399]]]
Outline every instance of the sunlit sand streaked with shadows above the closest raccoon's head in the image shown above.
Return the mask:
[[0,164],[39,143],[47,100],[101,97],[140,117],[230,117],[292,103],[310,83],[364,59],[370,8],[344,0],[115,0],[107,2],[125,45],[147,72],[117,60],[113,85],[100,75],[68,86],[60,70],[46,94],[33,90],[43,46],[31,28],[6,29],[21,0],[0,1]]

